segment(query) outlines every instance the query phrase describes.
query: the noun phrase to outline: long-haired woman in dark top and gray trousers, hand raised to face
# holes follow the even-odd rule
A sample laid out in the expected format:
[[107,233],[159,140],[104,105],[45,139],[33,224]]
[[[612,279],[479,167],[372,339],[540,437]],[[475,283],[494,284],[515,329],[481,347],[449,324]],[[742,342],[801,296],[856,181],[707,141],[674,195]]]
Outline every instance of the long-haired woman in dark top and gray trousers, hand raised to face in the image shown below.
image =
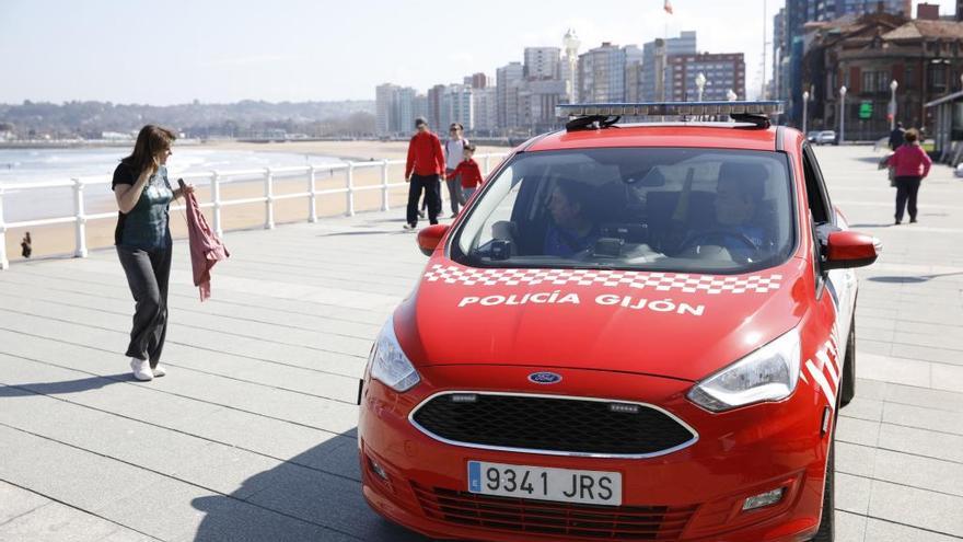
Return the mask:
[[117,199],[114,244],[136,301],[127,356],[138,380],[163,377],[160,365],[167,333],[167,279],[171,276],[171,201],[194,187],[173,189],[167,180],[167,158],[174,132],[159,126],[141,128],[134,152],[114,170],[112,188]]

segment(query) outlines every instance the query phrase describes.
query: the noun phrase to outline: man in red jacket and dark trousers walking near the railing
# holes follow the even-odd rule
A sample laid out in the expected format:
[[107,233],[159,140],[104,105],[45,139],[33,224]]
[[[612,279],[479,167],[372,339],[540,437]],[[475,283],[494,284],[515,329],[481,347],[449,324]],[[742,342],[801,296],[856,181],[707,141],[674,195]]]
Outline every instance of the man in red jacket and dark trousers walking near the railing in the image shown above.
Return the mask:
[[428,201],[428,221],[437,224],[441,211],[439,178],[444,173],[441,141],[428,129],[428,120],[422,117],[415,119],[415,129],[418,131],[408,143],[408,163],[405,165],[405,182],[410,183],[406,230],[418,227],[418,199],[422,188]]

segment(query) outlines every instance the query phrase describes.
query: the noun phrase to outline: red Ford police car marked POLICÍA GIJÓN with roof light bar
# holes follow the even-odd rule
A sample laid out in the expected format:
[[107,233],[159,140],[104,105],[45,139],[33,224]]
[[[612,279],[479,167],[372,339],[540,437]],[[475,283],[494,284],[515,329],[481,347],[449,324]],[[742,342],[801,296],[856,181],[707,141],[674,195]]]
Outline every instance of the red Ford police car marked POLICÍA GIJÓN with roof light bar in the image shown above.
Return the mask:
[[878,243],[778,103],[560,108],[418,234],[361,382],[366,499],[439,539],[833,540]]

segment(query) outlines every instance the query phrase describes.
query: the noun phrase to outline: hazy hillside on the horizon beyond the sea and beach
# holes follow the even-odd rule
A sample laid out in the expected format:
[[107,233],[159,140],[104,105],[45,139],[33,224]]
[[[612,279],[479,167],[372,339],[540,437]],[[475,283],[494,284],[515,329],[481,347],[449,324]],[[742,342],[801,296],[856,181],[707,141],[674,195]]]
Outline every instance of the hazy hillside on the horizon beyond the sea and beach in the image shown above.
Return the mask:
[[286,130],[310,136],[374,134],[374,102],[255,102],[153,106],[111,102],[53,104],[25,101],[0,104],[0,139],[100,138],[103,132],[131,132],[160,124],[189,137],[254,136]]

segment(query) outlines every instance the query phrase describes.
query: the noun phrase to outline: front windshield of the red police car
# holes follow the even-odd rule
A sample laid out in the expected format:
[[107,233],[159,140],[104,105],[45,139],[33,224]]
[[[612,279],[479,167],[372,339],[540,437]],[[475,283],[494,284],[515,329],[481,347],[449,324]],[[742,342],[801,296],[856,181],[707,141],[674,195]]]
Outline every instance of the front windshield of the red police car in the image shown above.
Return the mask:
[[777,152],[523,152],[467,209],[451,256],[478,267],[743,273],[788,258],[790,194]]

